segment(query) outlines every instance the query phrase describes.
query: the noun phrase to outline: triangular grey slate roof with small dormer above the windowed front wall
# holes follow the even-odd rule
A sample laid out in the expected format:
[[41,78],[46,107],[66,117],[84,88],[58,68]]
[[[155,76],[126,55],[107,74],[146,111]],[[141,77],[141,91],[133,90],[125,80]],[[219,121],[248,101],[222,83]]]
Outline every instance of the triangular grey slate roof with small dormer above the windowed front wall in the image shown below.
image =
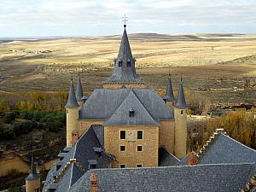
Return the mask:
[[[130,117],[131,109],[134,116]],[[125,97],[125,101],[119,108],[111,115],[111,117],[104,123],[104,125],[153,125],[160,126],[157,119],[148,112],[147,108],[137,98],[134,90]]]

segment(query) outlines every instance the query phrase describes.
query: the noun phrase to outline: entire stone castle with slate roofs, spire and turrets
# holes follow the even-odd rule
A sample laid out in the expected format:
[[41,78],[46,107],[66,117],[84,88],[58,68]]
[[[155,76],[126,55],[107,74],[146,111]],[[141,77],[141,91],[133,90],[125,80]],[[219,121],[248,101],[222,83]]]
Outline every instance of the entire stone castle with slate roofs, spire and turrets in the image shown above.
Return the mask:
[[[166,96],[159,96],[137,76],[135,62],[124,29],[113,73],[102,89],[84,96],[80,76],[76,91],[71,81],[67,147],[58,154],[43,191],[253,189],[256,151],[219,129],[201,154],[187,154],[183,82],[176,99],[169,75]],[[39,191],[40,177],[33,166],[30,175],[26,191]]]

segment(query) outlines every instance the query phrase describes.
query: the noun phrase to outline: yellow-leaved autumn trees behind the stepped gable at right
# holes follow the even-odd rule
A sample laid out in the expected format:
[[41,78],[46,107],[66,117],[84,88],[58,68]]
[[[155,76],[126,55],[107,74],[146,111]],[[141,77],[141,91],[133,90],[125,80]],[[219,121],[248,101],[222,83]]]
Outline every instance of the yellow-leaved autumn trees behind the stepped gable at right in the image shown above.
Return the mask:
[[256,149],[256,116],[254,114],[256,114],[255,110],[246,111],[244,109],[226,113],[219,118],[189,122],[189,149],[199,151],[217,128],[224,128],[230,137]]

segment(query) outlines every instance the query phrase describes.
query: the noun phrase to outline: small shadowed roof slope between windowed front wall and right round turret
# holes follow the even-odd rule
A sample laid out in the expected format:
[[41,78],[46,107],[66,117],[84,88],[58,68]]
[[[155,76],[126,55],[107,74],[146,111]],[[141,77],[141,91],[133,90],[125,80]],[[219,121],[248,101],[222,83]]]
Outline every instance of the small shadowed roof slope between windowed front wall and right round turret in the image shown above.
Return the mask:
[[176,166],[179,161],[176,156],[166,151],[165,148],[159,148],[159,166]]

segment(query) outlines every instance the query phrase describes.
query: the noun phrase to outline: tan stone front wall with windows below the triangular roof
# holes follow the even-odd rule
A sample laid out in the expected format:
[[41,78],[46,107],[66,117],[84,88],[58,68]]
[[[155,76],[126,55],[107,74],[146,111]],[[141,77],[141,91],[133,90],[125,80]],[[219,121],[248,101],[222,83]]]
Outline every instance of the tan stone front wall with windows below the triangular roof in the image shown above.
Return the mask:
[[[120,139],[120,131],[126,131],[125,139]],[[137,131],[143,131],[143,139],[137,139]],[[116,161],[113,167],[158,166],[159,127],[157,126],[105,126],[104,147],[113,154]],[[120,151],[125,146],[125,151]],[[137,151],[143,146],[143,151]]]

